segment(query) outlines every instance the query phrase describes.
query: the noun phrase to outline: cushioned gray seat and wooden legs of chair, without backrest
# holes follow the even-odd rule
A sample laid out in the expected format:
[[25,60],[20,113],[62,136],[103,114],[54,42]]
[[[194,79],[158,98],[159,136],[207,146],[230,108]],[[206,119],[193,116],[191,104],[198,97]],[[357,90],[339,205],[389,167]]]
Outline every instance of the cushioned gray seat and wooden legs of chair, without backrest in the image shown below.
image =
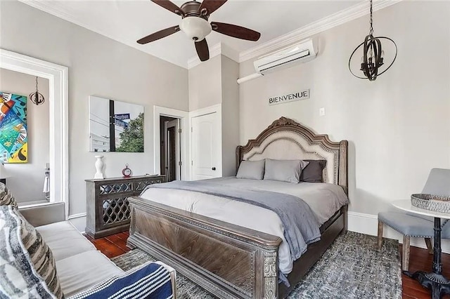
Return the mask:
[[434,222],[432,220],[408,215],[401,211],[378,213],[378,249],[381,249],[383,245],[384,225],[403,234],[401,270],[409,270],[409,241],[411,237],[425,238],[428,253],[433,253],[431,238],[433,237]]

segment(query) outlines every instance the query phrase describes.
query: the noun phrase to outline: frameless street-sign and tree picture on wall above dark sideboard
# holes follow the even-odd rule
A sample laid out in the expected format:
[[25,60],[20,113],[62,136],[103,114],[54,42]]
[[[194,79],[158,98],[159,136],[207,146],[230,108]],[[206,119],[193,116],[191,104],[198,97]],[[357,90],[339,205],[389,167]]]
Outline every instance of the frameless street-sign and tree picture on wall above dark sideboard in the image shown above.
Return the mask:
[[143,106],[89,96],[89,151],[143,152]]

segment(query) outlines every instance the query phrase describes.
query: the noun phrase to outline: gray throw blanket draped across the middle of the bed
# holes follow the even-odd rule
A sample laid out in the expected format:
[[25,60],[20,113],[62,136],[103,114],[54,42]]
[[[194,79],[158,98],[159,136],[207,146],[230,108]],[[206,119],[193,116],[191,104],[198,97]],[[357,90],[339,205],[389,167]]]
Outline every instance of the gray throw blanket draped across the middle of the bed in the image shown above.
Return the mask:
[[320,225],[308,204],[302,199],[278,192],[246,190],[208,181],[173,181],[149,185],[148,188],[187,190],[226,197],[274,211],[281,219],[284,237],[288,242],[293,260],[307,251],[308,244],[321,237]]

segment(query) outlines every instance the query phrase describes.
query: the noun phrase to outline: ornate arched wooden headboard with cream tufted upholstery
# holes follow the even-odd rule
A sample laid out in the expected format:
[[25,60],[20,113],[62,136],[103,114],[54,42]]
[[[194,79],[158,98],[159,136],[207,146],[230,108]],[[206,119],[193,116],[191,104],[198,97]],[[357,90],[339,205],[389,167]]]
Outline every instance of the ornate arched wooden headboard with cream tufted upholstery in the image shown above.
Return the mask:
[[347,140],[333,142],[328,135],[317,135],[293,119],[281,117],[247,145],[236,148],[236,171],[243,160],[323,159],[323,182],[340,185],[348,192]]

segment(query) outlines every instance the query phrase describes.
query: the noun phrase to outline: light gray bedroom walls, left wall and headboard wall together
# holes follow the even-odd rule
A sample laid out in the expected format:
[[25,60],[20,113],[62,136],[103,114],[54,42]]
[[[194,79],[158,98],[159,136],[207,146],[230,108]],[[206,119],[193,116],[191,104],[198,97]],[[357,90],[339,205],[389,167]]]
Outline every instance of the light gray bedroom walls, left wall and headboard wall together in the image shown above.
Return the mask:
[[[70,214],[86,211],[84,179],[95,172],[94,153],[87,152],[89,95],[146,107],[145,153],[105,154],[107,177],[119,176],[125,163],[136,175],[153,169],[153,105],[193,111],[219,103],[224,124],[239,127],[230,149],[236,136],[245,144],[281,116],[349,140],[352,211],[376,214],[419,192],[430,168],[450,168],[449,2],[402,1],[375,12],[375,34],[399,46],[392,69],[375,82],[347,69],[368,32],[365,16],[318,34],[316,60],[240,85],[239,109],[231,84],[236,64],[228,58],[187,71],[25,4],[0,1],[0,8],[1,48],[69,67]],[[239,67],[240,77],[253,72],[252,61]],[[311,99],[266,102],[303,88],[311,88]],[[320,107],[326,116],[319,117]]]

